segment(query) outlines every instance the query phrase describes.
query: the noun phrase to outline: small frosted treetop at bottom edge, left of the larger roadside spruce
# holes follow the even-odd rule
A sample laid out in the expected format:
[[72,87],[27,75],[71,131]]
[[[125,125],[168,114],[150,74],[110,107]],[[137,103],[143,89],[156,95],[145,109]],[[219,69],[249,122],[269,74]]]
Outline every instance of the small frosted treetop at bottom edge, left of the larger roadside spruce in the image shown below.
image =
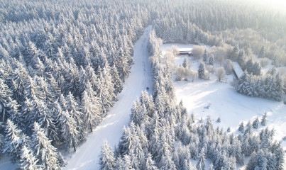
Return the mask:
[[40,170],[42,169],[40,166],[37,165],[38,160],[35,159],[31,150],[23,146],[21,150],[21,159],[20,159],[20,169],[23,170]]

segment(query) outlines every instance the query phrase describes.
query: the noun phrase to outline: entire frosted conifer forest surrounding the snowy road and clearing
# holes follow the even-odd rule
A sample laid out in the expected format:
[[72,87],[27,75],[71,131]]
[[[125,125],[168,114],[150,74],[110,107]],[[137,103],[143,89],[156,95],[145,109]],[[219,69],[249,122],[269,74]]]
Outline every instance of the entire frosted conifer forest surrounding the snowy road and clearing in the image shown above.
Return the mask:
[[[275,130],[253,132],[259,120],[229,135],[177,104],[160,45],[211,45],[209,63],[231,60],[245,72],[233,90],[282,101],[286,81],[275,68],[286,66],[285,17],[246,1],[3,0],[0,152],[20,169],[65,167],[61,152],[76,152],[108,115],[131,73],[133,46],[152,25],[153,93],[134,101],[119,144],[112,149],[104,142],[100,169],[205,169],[207,159],[216,170],[283,169]],[[268,74],[254,55],[273,62]]]

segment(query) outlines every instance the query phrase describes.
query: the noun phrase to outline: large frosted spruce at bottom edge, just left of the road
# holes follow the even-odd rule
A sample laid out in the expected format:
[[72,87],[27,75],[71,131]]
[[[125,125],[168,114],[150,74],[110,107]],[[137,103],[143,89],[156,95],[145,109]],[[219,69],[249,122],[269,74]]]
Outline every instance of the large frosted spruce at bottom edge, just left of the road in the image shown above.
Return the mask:
[[38,159],[38,164],[43,169],[60,169],[55,147],[50,144],[50,140],[45,136],[45,131],[36,122],[33,128],[31,149],[33,149],[33,155],[35,159]]

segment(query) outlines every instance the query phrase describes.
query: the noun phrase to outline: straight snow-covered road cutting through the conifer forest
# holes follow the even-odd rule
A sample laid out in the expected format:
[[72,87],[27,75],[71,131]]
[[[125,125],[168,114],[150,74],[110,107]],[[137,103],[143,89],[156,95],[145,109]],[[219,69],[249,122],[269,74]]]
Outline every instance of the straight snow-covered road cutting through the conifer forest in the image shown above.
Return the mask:
[[143,35],[134,45],[134,62],[131,74],[123,86],[117,101],[100,125],[89,135],[87,141],[77,149],[77,152],[67,158],[65,169],[99,169],[99,154],[101,145],[107,140],[114,147],[122,135],[123,126],[128,125],[133,101],[141,95],[148,86],[152,91],[151,69],[148,62],[148,37],[151,26],[145,28]]

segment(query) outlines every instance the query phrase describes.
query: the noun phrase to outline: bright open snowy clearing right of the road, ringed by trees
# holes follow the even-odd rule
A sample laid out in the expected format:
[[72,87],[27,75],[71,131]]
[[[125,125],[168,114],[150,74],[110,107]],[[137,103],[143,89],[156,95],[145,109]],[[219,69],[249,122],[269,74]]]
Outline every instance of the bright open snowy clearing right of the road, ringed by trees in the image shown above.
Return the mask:
[[[164,44],[161,49],[163,54],[167,47],[177,45],[179,50],[192,49],[194,45]],[[175,58],[176,65],[182,65],[186,56]],[[199,60],[187,57],[192,64],[192,70],[198,70]],[[215,65],[215,67],[217,67]],[[196,79],[191,81],[174,81],[177,102],[181,100],[187,108],[189,114],[194,113],[197,120],[210,115],[214,120],[214,125],[224,128],[231,128],[231,132],[237,132],[238,125],[243,121],[244,125],[249,120],[261,118],[267,113],[267,126],[275,129],[275,140],[282,140],[286,136],[286,105],[283,102],[270,101],[265,98],[253,98],[238,94],[230,82],[233,74],[226,76],[224,82],[217,82],[215,74],[211,74],[210,80]],[[209,106],[207,108],[207,106]],[[216,123],[217,118],[221,118],[221,123]],[[260,128],[265,128],[262,125]],[[254,130],[257,131],[257,130]],[[286,141],[282,143],[286,150]],[[286,164],[285,164],[286,167]]]

